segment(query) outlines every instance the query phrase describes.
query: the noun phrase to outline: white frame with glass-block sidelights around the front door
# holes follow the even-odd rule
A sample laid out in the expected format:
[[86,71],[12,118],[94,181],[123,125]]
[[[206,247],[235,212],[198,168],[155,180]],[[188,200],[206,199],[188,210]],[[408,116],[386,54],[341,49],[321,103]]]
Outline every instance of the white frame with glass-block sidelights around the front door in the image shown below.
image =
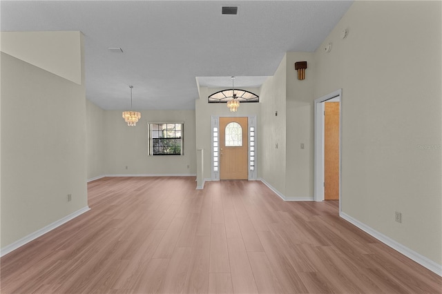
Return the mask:
[[[221,117],[228,117],[225,115],[222,115]],[[233,116],[235,117],[235,116]],[[241,115],[241,117],[247,117],[247,145],[249,146],[247,148],[247,168],[249,170],[248,173],[248,179],[249,180],[256,180],[258,178],[258,141],[257,141],[257,135],[258,135],[258,128],[257,128],[257,121],[256,121],[256,115]],[[250,128],[253,127],[254,128],[254,136],[253,136],[253,141],[254,141],[254,161],[253,161],[253,169],[251,169],[251,162],[250,162],[250,142],[251,142],[251,135],[250,135]],[[213,128],[217,128],[218,129],[218,133],[219,133],[219,128],[220,128],[220,115],[211,115],[211,150],[210,150],[210,154],[211,154],[211,181],[219,181],[220,180],[220,170],[218,168],[218,170],[214,170],[214,163],[215,163],[215,156],[214,151],[213,151]],[[219,161],[218,161],[219,163]],[[219,167],[219,166],[218,166]]]

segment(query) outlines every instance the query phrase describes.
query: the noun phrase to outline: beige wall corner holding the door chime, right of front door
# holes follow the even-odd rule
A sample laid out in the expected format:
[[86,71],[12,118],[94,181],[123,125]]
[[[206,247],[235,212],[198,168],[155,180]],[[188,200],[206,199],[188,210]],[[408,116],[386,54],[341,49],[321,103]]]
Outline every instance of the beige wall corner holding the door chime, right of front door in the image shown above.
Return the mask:
[[[308,64],[302,81],[294,68],[296,61]],[[287,52],[260,90],[262,179],[290,200],[313,199],[314,65],[314,53]]]

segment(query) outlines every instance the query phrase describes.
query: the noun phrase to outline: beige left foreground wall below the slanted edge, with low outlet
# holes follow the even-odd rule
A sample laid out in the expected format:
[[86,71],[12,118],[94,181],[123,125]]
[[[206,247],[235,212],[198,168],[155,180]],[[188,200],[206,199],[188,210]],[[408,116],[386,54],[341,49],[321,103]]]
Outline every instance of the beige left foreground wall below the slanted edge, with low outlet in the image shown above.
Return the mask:
[[[82,35],[69,36],[83,68]],[[81,77],[79,85],[1,52],[1,248],[88,205]]]

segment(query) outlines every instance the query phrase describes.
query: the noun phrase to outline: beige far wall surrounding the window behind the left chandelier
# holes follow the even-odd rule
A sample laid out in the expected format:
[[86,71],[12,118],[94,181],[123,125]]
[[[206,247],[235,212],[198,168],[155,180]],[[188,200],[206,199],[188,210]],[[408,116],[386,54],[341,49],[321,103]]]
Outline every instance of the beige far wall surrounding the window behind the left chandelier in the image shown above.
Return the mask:
[[[122,111],[104,111],[104,173],[106,175],[195,175],[195,111],[141,110],[130,127]],[[148,121],[184,121],[184,156],[149,156]],[[126,166],[128,167],[126,169]]]

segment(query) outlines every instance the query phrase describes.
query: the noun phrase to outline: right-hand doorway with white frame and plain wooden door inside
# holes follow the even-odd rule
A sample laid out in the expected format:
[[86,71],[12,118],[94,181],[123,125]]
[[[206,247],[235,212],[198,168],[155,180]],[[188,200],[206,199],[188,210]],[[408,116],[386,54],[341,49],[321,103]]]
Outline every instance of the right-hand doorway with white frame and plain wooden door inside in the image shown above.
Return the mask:
[[[341,199],[342,89],[315,100],[314,199]],[[327,113],[328,112],[328,113]],[[340,206],[341,202],[339,202]]]

